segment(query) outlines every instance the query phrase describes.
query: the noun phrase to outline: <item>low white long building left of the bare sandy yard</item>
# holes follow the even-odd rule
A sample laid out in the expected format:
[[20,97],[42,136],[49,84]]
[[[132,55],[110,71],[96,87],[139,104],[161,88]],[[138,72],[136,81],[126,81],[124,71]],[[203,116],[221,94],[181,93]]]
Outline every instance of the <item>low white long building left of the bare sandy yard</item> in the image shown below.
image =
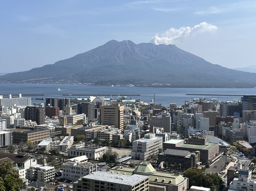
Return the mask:
[[99,160],[102,158],[103,154],[106,151],[106,147],[102,146],[90,146],[85,144],[75,144],[72,145],[69,149],[69,156],[84,156],[86,155],[91,160]]

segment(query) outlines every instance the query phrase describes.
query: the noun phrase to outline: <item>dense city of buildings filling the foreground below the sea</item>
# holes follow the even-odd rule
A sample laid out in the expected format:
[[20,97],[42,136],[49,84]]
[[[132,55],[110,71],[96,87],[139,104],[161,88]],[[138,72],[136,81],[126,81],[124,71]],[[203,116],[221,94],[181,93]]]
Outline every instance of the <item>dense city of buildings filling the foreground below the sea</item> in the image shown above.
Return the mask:
[[256,191],[256,96],[0,95],[0,190]]

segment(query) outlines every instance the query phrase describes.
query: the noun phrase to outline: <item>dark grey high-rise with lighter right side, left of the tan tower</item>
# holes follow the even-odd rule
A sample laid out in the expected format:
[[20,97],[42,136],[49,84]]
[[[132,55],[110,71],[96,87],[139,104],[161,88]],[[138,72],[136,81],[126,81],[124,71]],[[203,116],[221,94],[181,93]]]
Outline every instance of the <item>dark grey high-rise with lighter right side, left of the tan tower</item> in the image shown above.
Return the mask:
[[88,123],[95,121],[95,104],[93,102],[85,102],[77,104],[77,113],[86,115]]

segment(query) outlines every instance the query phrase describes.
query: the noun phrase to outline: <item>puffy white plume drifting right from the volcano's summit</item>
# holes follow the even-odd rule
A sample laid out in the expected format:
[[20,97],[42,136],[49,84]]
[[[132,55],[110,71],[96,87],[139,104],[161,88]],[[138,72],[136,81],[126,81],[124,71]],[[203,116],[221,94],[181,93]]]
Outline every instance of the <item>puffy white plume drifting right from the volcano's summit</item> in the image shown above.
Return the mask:
[[195,35],[215,30],[217,30],[217,26],[211,25],[207,22],[201,22],[200,24],[193,27],[180,27],[179,29],[175,29],[172,27],[161,35],[156,34],[151,39],[151,42],[154,44],[174,44],[174,42],[176,42],[177,40],[186,38],[189,35]]

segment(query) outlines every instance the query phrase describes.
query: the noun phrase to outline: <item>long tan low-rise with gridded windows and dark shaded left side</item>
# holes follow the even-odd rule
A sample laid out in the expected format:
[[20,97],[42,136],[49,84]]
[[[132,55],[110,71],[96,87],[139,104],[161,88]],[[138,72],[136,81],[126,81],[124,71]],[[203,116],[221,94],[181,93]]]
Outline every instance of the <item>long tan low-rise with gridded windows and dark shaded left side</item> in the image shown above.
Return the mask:
[[10,129],[13,131],[13,143],[19,144],[20,142],[32,141],[34,144],[40,143],[42,140],[50,137],[50,129],[22,129],[22,127],[17,129]]

